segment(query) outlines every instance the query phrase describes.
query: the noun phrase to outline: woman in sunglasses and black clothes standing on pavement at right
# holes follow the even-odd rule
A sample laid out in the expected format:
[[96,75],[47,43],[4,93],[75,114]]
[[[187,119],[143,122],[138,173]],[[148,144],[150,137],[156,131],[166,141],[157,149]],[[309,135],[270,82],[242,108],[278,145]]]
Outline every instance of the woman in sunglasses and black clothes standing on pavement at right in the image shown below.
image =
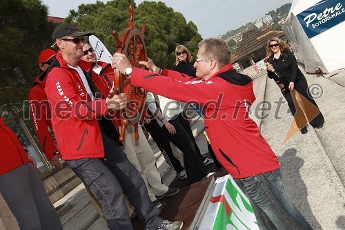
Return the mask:
[[[292,90],[296,90],[299,95],[301,95],[303,108],[311,108],[311,104],[319,108],[311,96],[306,77],[304,77],[301,70],[299,70],[295,55],[290,51],[288,44],[282,41],[282,39],[273,37],[267,41],[267,50],[267,75],[269,78],[273,78],[278,85],[284,85],[282,88],[283,96],[288,102],[288,107],[295,117],[296,124],[301,133],[308,133],[308,129],[306,128],[308,122],[314,128],[322,128],[324,125],[324,116],[320,111],[315,116],[315,113],[311,114],[308,109],[303,110],[299,108],[298,103],[295,104],[294,102],[294,93],[291,94]],[[280,79],[276,74],[279,75]],[[286,83],[284,84],[284,82]],[[304,115],[295,116],[297,109],[299,111],[304,111],[308,121]]]

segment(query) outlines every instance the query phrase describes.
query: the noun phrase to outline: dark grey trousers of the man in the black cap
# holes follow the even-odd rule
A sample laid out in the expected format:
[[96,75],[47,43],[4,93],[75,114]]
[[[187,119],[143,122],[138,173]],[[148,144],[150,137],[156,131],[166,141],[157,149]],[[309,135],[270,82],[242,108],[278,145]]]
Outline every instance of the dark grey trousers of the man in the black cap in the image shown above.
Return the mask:
[[132,229],[124,193],[135,207],[141,226],[156,229],[163,219],[158,216],[159,209],[148,197],[143,178],[114,140],[103,132],[102,139],[104,158],[66,162],[99,200],[109,229]]

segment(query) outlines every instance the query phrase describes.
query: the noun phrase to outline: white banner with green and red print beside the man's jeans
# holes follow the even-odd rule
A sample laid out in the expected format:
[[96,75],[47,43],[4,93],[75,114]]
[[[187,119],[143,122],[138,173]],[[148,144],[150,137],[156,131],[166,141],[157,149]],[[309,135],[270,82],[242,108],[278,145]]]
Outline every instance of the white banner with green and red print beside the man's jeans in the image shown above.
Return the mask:
[[259,230],[249,200],[230,175],[217,178],[198,230]]

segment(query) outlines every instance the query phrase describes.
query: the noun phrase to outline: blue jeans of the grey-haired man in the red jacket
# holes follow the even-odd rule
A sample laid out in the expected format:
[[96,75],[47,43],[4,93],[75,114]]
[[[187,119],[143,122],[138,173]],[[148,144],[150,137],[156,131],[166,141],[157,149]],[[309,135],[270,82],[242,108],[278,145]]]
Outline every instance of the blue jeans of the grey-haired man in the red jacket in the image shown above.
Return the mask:
[[280,169],[235,181],[246,192],[259,229],[312,229],[288,195]]

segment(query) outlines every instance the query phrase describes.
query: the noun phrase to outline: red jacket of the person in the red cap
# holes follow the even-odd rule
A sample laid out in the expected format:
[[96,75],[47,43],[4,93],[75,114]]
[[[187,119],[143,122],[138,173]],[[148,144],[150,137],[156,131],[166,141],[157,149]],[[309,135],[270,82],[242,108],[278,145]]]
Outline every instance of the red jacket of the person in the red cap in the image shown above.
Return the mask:
[[28,100],[30,102],[30,115],[34,124],[34,131],[39,139],[39,145],[47,159],[50,160],[54,153],[58,152],[54,139],[48,127],[52,130],[52,114],[50,113],[49,103],[44,87],[46,85],[46,73],[34,80]]

